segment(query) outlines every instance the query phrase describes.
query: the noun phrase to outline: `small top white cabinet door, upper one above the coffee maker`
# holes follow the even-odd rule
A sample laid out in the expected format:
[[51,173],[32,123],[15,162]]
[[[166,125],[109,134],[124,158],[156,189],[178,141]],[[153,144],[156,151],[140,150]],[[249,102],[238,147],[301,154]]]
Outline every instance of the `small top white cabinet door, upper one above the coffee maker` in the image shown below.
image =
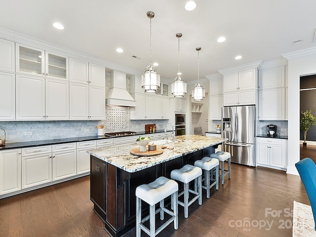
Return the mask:
[[285,87],[285,66],[259,71],[259,90]]

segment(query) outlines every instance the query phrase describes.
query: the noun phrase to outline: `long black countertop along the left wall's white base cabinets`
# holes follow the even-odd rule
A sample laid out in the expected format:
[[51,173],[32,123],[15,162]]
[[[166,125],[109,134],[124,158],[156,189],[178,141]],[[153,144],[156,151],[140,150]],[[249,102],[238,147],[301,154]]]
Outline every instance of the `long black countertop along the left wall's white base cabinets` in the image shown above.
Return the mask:
[[[164,132],[164,130],[157,130],[155,133]],[[167,132],[171,132],[171,130],[167,130]],[[153,132],[137,132],[133,134],[134,136],[144,135],[144,134],[152,134]],[[131,136],[131,135],[126,135]],[[114,136],[116,137],[116,136]],[[117,136],[124,137],[124,136]],[[34,147],[34,146],[44,146],[44,145],[54,145],[61,143],[71,143],[71,142],[81,142],[81,141],[90,141],[90,140],[98,140],[98,139],[109,139],[113,137],[106,136],[86,136],[86,137],[70,137],[70,138],[61,138],[61,139],[50,139],[50,140],[39,140],[39,141],[29,141],[29,142],[13,142],[13,143],[5,143],[4,146],[0,146],[0,151],[5,149],[15,149],[15,148],[26,148],[26,147]]]

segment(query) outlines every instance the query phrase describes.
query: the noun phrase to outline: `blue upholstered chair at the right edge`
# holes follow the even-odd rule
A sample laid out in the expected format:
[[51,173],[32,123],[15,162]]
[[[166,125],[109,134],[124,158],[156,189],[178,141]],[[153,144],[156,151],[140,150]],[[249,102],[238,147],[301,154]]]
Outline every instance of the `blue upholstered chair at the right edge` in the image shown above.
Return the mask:
[[311,158],[304,158],[298,161],[295,166],[301,176],[307,196],[310,199],[316,230],[316,164]]

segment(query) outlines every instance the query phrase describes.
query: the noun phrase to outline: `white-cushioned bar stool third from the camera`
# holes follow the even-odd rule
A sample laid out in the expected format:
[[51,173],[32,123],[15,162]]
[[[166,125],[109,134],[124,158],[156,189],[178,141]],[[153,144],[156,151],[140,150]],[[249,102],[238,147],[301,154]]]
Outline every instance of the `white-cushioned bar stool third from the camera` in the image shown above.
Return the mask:
[[[202,159],[196,160],[194,165],[204,170],[204,177],[202,178],[204,185],[202,185],[202,188],[206,189],[206,197],[209,198],[210,189],[214,185],[216,185],[216,190],[218,190],[219,160],[216,158],[203,157]],[[214,170],[215,179],[213,178]],[[213,181],[212,184],[210,184],[210,181]]]

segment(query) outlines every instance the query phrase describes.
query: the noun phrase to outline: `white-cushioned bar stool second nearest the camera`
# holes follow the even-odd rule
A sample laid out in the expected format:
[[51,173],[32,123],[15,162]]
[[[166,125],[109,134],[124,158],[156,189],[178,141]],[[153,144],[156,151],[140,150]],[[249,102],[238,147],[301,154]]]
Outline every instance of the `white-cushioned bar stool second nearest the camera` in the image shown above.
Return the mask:
[[[184,165],[181,169],[174,169],[170,173],[171,179],[183,183],[183,191],[178,197],[184,195],[184,202],[178,200],[178,204],[184,207],[184,217],[189,216],[189,206],[198,198],[198,204],[202,204],[202,169],[191,164]],[[189,183],[194,180],[194,190],[189,188]],[[189,193],[195,195],[189,201]],[[172,202],[171,202],[172,203]],[[172,205],[172,204],[171,204]]]

